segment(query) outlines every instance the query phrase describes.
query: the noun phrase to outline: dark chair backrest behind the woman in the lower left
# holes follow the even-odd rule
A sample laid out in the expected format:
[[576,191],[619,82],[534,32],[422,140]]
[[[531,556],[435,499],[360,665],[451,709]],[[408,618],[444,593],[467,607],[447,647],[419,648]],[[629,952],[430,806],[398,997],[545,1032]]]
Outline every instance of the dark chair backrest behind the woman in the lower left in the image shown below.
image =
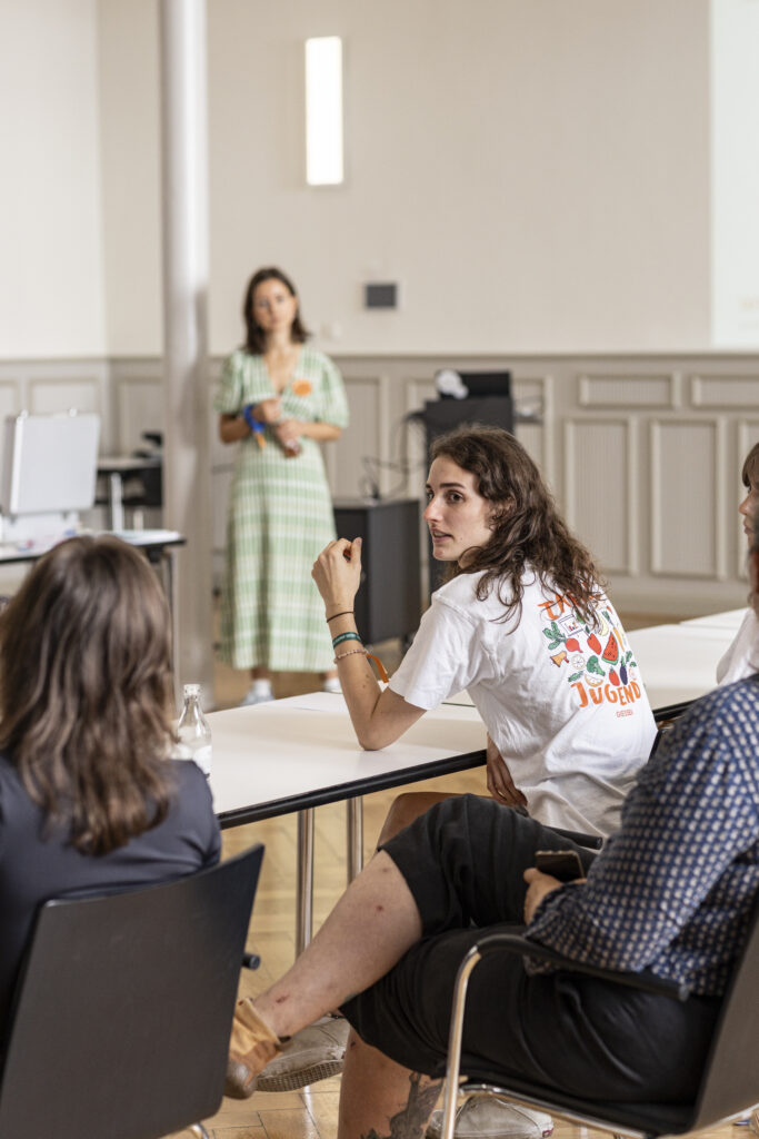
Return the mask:
[[0,1084],[8,1139],[157,1139],[221,1103],[263,846],[40,910]]

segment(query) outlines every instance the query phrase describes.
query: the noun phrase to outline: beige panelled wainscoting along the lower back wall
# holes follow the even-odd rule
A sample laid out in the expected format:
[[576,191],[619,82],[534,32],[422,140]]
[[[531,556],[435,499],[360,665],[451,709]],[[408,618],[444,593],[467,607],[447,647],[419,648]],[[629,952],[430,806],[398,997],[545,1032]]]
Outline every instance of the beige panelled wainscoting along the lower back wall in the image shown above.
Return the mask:
[[[335,357],[352,423],[325,448],[341,498],[377,490],[418,497],[421,427],[407,417],[435,398],[438,368],[509,368],[517,434],[572,528],[627,609],[698,614],[746,593],[739,524],[740,470],[759,440],[759,355]],[[208,432],[216,573],[224,544],[231,451],[212,409],[221,359],[211,362]],[[0,415],[69,407],[102,416],[102,453],[127,453],[163,419],[160,360],[0,361]],[[422,560],[427,543],[421,544]],[[420,582],[426,567],[420,565]]]

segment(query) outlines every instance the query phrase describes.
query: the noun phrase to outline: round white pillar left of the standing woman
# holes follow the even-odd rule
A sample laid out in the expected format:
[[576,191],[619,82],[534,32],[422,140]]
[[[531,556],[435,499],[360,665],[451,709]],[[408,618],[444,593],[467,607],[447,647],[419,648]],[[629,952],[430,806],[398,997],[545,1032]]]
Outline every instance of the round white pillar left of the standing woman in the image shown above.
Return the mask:
[[178,557],[175,671],[213,707],[205,0],[160,0],[164,513]]

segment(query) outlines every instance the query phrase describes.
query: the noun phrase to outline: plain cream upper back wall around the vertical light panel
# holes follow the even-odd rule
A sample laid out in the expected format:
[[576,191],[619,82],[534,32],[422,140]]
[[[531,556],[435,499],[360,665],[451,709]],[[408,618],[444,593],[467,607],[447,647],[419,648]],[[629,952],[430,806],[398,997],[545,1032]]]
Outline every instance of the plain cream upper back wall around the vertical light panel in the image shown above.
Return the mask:
[[[156,0],[100,14],[108,347],[154,353]],[[208,0],[212,351],[270,261],[336,352],[707,349],[708,31],[708,0]],[[308,189],[324,33],[347,181]],[[372,277],[399,312],[362,310]]]

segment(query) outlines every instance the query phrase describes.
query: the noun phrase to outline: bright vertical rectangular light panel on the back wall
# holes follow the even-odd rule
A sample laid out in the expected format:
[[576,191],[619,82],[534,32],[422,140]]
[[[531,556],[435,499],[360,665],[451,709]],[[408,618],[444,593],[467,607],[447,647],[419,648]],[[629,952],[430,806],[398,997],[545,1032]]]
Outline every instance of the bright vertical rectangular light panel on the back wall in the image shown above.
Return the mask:
[[343,171],[343,40],[306,40],[306,181],[338,186]]

